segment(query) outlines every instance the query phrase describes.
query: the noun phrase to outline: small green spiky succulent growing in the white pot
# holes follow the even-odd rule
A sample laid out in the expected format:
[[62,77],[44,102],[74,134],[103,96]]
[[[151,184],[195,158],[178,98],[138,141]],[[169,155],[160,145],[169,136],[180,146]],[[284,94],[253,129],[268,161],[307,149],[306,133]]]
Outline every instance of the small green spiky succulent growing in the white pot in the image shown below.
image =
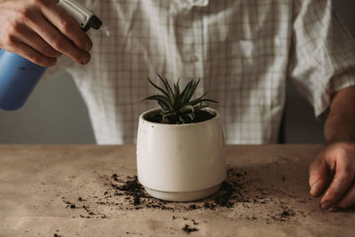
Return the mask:
[[156,94],[147,97],[144,100],[156,100],[159,106],[162,108],[161,116],[162,122],[170,124],[190,123],[194,122],[196,115],[201,111],[202,107],[208,107],[207,102],[218,103],[212,99],[204,99],[207,92],[201,97],[193,99],[193,93],[196,91],[197,85],[200,83],[200,79],[191,80],[186,84],[185,89],[180,92],[179,81],[174,83],[173,88],[170,87],[167,79],[163,79],[161,75],[159,78],[162,81],[164,89],[153,83],[149,77],[147,77],[149,83],[151,83],[162,94]]

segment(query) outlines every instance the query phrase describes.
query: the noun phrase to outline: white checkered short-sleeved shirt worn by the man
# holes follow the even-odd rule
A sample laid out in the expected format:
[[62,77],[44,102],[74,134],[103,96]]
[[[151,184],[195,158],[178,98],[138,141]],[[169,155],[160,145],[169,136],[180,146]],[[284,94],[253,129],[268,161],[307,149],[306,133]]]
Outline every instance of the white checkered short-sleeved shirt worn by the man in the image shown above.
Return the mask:
[[277,142],[288,81],[316,116],[355,84],[355,42],[331,0],[83,2],[110,36],[91,30],[91,63],[58,67],[74,76],[99,144],[136,142],[138,116],[157,107],[141,102],[157,92],[147,75],[201,78],[196,96],[219,102],[229,144]]

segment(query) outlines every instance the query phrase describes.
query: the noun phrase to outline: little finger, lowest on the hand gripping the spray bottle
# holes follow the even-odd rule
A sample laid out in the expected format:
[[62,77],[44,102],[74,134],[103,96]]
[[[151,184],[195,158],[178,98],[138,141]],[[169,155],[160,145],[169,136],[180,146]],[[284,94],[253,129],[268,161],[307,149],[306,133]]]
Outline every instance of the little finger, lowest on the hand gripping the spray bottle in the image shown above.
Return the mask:
[[57,62],[57,58],[46,57],[25,43],[14,42],[9,47],[8,51],[16,51],[16,53],[23,58],[26,58],[42,67],[51,67]]

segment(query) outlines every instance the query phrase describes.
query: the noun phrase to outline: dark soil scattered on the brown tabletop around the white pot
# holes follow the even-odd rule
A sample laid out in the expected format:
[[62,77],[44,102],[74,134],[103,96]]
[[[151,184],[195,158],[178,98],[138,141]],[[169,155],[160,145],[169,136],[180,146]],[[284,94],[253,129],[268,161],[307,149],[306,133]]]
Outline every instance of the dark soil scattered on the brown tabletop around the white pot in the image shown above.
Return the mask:
[[[292,200],[294,203],[306,203],[311,199],[300,194],[289,193],[285,176],[286,174],[275,176],[275,178],[281,179],[283,186],[265,186],[263,185],[264,180],[259,178],[258,171],[244,171],[231,167],[227,170],[227,178],[217,194],[200,201],[173,202],[150,197],[146,194],[143,186],[139,184],[137,176],[122,176],[114,173],[108,176],[99,175],[100,184],[103,184],[103,191],[99,193],[95,191],[91,194],[87,192],[87,195],[84,195],[85,192],[81,192],[81,196],[72,196],[71,198],[61,195],[61,200],[76,217],[82,218],[116,217],[117,209],[143,211],[154,209],[169,211],[174,220],[181,218],[179,213],[183,211],[217,210],[230,212],[231,214],[228,215],[237,215],[237,218],[249,221],[264,221],[267,224],[286,221],[296,222],[298,217],[306,217],[309,212],[307,213],[306,209],[296,209],[292,203],[285,203],[285,200]],[[83,188],[85,187],[83,186]],[[75,187],[75,190],[68,193],[77,193],[77,190],[78,188]],[[268,205],[266,210],[263,207],[264,205]],[[271,206],[274,209],[271,209]],[[236,209],[239,211],[235,212]],[[188,219],[182,218],[183,220]],[[192,221],[193,225],[199,223],[195,220]],[[185,232],[189,232],[190,226],[184,228]],[[193,231],[197,231],[197,229]]]

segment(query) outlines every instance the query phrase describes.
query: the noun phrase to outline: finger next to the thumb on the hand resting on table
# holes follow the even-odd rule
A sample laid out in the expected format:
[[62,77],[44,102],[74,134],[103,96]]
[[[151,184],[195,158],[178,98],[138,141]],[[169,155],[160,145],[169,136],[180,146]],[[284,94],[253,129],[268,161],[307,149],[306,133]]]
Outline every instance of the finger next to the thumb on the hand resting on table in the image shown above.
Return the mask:
[[336,163],[335,176],[326,193],[320,199],[320,207],[328,209],[340,200],[354,179],[354,170],[349,160]]

